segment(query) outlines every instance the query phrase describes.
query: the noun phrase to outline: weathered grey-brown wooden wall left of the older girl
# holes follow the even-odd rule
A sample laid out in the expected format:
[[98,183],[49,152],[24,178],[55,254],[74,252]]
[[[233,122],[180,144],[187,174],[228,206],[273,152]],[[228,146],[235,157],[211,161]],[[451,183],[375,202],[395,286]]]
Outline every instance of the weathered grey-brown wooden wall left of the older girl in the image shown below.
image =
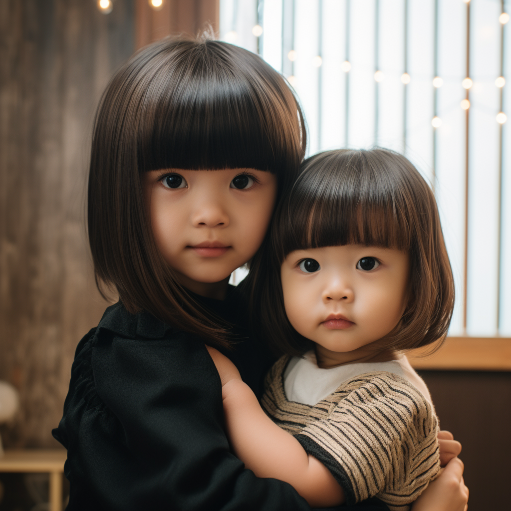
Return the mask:
[[134,0],[0,2],[0,379],[20,392],[5,447],[58,447],[75,347],[106,306],[84,222],[90,131],[134,48]]

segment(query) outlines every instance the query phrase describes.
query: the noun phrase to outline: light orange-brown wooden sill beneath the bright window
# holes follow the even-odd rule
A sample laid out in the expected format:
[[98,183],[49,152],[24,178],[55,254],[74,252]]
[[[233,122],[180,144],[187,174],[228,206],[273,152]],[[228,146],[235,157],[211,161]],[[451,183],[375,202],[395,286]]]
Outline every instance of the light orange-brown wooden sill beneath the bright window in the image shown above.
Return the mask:
[[407,353],[415,369],[511,371],[511,338],[448,337],[433,355],[429,346]]

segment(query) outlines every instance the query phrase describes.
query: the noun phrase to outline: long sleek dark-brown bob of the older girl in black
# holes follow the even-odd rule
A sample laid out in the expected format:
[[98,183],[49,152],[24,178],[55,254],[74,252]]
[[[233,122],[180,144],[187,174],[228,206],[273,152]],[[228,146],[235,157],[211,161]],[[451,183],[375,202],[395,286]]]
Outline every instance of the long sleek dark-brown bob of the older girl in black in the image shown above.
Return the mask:
[[291,89],[259,56],[207,37],[138,52],[108,84],[92,134],[87,220],[100,292],[114,288],[129,312],[228,345],[227,325],[178,284],[159,252],[141,174],[254,168],[276,174],[280,195],[305,147]]

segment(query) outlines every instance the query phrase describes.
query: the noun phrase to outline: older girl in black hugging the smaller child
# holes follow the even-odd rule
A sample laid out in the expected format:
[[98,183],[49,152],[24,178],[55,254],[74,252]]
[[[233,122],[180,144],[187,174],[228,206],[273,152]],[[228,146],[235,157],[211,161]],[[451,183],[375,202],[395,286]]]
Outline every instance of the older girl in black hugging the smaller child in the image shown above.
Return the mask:
[[[92,137],[88,233],[97,280],[120,301],[78,344],[54,430],[67,509],[310,509],[230,452],[204,346],[260,393],[271,359],[227,283],[261,245],[305,133],[283,78],[229,44],[164,40],[112,78]],[[459,500],[462,468],[450,467]],[[442,490],[429,496],[422,508],[438,509]]]

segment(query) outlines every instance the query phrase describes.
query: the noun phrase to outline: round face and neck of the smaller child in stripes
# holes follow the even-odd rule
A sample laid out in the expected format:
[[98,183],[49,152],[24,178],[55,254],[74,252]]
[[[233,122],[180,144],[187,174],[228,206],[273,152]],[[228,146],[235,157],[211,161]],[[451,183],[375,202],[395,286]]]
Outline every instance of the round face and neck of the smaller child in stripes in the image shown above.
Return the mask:
[[407,303],[408,254],[365,245],[291,252],[281,268],[286,314],[316,343],[322,367],[369,360]]

